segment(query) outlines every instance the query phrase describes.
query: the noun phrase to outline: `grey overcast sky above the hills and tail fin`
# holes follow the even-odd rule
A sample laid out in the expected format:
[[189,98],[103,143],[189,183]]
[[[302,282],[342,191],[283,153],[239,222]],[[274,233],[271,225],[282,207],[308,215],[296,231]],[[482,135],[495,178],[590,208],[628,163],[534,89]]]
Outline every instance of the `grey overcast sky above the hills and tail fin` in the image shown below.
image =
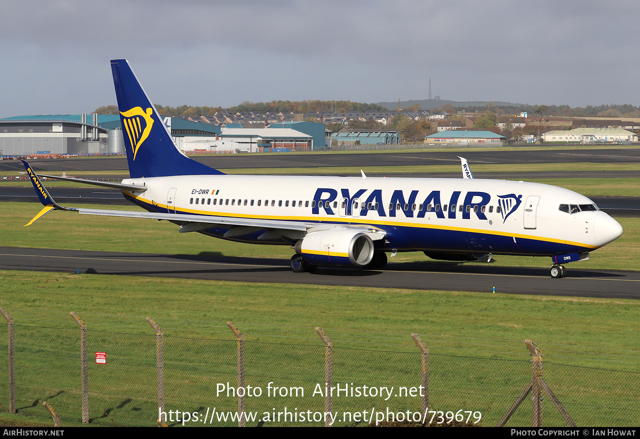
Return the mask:
[[640,105],[640,2],[0,0],[0,117],[115,104],[427,99]]

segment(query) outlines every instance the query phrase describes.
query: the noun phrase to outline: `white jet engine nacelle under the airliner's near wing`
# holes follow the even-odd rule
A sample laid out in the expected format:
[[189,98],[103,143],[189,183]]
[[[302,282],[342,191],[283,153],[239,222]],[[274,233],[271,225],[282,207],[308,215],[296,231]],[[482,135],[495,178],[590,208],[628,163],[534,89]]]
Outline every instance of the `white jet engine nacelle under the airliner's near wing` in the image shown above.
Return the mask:
[[309,264],[362,267],[373,259],[373,240],[355,230],[321,230],[306,235],[294,250]]

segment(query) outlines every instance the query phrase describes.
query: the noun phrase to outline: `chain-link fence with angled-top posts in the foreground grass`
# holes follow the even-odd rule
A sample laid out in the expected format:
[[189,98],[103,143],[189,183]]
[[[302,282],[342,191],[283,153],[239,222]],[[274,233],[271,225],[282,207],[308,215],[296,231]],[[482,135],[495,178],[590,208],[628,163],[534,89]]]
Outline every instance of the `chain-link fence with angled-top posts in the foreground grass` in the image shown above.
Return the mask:
[[[537,354],[532,357],[522,345],[518,351],[500,353],[485,345],[479,349],[480,344],[471,341],[467,349],[475,347],[474,355],[462,355],[449,353],[451,347],[444,344],[420,348],[409,334],[394,339],[406,339],[404,344],[380,342],[383,337],[371,341],[373,335],[366,335],[369,341],[355,336],[332,341],[332,331],[324,334],[320,328],[317,333],[312,328],[296,330],[306,334],[303,342],[291,331],[274,335],[277,331],[264,329],[244,340],[242,324],[235,333],[219,325],[215,338],[182,337],[167,335],[180,331],[163,331],[161,321],[155,329],[145,323],[145,328],[127,333],[95,330],[87,323],[84,362],[81,327],[70,318],[68,324],[56,322],[38,325],[32,319],[0,326],[0,411],[9,416],[15,411],[27,424],[52,424],[42,406],[47,402],[63,426],[81,425],[83,420],[105,426],[155,426],[163,415],[168,426],[345,426],[423,422],[425,413],[431,424],[447,423],[457,415],[463,423],[495,426],[538,378],[577,426],[640,422],[635,363],[607,369],[593,367],[593,362],[534,360],[532,367]],[[263,341],[267,336],[280,339]],[[534,345],[527,346],[531,351]],[[536,364],[543,372],[535,372]],[[532,420],[536,398],[542,408],[537,421]],[[243,408],[239,422],[237,414]],[[332,413],[328,418],[326,411]],[[536,394],[534,384],[506,426],[536,422],[547,427],[566,426],[568,421],[550,394]]]

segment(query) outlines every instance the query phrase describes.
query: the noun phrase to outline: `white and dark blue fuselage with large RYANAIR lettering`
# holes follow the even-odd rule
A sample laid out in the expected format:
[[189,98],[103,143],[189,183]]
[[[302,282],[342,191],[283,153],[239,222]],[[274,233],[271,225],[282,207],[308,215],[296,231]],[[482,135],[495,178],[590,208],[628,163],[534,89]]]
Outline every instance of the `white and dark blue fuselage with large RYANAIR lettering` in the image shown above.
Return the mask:
[[[585,196],[509,180],[195,175],[123,183],[147,186],[125,195],[148,211],[368,225],[385,230],[388,250],[550,256],[594,250],[622,231]],[[258,235],[233,239],[291,244]]]

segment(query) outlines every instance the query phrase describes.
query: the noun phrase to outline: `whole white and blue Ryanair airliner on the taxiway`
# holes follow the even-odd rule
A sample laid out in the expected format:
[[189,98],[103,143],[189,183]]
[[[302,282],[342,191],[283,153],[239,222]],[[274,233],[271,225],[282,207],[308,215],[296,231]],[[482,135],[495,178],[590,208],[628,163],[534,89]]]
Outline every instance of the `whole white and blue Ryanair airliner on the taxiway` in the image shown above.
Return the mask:
[[122,189],[147,212],[64,207],[24,163],[44,209],[166,219],[180,233],[255,244],[284,244],[293,271],[317,266],[380,269],[387,253],[434,259],[547,256],[551,276],[588,259],[622,227],[586,196],[545,184],[474,179],[225,175],[185,156],[126,60],[111,61],[129,179],[122,183],[52,177]]

